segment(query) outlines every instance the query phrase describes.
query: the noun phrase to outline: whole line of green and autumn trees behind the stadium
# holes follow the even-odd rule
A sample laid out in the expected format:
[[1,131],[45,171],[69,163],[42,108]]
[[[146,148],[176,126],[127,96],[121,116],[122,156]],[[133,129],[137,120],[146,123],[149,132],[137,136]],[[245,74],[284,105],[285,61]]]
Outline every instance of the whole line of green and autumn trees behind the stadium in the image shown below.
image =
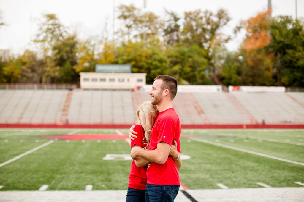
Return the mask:
[[0,83],[79,84],[79,72],[94,72],[95,64],[130,64],[133,73],[147,73],[147,84],[166,74],[179,84],[304,86],[303,19],[261,11],[234,28],[246,35],[231,52],[224,9],[182,17],[165,10],[161,18],[131,4],[118,13],[115,39],[105,28],[97,41],[80,40],[55,14],[43,15],[34,48],[0,62]]

